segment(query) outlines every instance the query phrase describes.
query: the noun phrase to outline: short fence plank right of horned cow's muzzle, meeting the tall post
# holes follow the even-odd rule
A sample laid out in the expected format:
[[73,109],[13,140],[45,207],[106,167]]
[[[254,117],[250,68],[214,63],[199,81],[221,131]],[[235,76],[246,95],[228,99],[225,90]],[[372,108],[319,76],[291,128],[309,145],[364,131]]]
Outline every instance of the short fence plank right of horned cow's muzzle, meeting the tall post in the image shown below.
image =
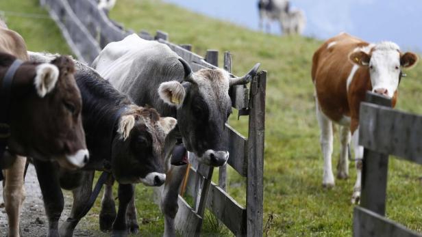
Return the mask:
[[232,166],[238,173],[246,177],[247,176],[247,147],[248,141],[246,137],[243,137],[234,128],[225,124],[227,128],[228,136],[228,148],[229,148],[229,160],[227,163]]

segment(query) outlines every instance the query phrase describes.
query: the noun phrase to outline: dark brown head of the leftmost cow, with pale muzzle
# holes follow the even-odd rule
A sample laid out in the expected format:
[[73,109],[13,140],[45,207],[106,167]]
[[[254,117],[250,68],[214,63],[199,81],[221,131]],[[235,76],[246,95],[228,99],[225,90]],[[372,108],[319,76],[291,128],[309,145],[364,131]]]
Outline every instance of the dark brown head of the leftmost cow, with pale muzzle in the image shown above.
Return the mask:
[[[14,59],[0,54],[1,77]],[[54,159],[66,169],[88,162],[82,99],[73,71],[73,61],[68,57],[57,57],[47,64],[27,61],[16,70],[8,139],[12,153]]]

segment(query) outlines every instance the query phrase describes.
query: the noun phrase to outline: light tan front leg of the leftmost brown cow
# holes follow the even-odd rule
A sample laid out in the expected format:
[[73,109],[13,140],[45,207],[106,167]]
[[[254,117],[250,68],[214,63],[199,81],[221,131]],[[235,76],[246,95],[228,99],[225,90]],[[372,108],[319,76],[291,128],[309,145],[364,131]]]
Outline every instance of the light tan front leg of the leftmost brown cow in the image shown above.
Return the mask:
[[8,214],[10,237],[19,237],[19,222],[23,201],[25,200],[24,176],[27,158],[16,156],[12,167],[5,169],[5,186],[3,198],[5,211]]

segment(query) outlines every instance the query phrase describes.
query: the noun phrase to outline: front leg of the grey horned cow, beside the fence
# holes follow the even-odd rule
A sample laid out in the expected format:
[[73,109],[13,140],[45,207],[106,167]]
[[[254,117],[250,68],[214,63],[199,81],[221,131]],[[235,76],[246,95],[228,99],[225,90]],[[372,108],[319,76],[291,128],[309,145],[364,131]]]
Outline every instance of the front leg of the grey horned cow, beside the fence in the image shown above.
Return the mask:
[[166,182],[161,195],[161,210],[164,213],[164,236],[176,236],[175,217],[179,205],[177,199],[179,197],[180,184],[186,172],[187,165],[171,166],[170,171],[166,173]]

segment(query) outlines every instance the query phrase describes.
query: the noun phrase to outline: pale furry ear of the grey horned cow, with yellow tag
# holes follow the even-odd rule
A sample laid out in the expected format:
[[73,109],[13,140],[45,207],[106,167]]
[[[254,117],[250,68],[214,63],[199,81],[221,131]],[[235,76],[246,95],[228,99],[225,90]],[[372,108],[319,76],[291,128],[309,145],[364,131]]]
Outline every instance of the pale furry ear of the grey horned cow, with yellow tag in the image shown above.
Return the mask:
[[186,96],[183,85],[178,81],[167,81],[165,83],[161,83],[160,87],[158,87],[158,94],[160,95],[160,98],[166,102],[166,104],[170,104],[171,106],[175,106],[177,108],[182,106],[183,100]]

